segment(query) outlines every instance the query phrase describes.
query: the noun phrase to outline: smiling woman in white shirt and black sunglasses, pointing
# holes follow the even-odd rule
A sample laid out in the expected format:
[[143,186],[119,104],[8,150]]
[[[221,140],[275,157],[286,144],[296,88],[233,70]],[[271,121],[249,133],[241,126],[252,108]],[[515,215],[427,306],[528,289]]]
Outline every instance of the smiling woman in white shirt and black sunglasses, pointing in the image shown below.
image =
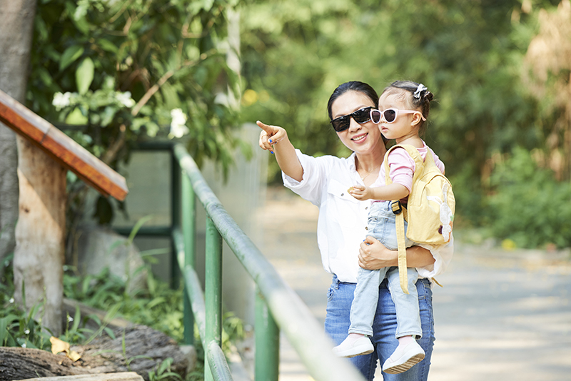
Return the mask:
[[[339,345],[348,332],[358,266],[375,270],[398,265],[396,251],[387,250],[374,238],[368,237],[363,241],[370,202],[359,201],[348,193],[348,188],[355,184],[370,186],[378,178],[378,170],[383,163],[386,152],[383,136],[369,116],[370,109],[377,105],[377,93],[363,82],[343,83],[331,95],[329,118],[340,141],[353,151],[348,158],[303,155],[295,150],[283,128],[257,122],[262,128],[260,146],[276,154],[284,185],[319,208],[318,245],[323,267],[333,274],[325,332],[335,345]],[[419,273],[416,288],[423,337],[418,343],[426,356],[407,372],[398,375],[383,372],[385,381],[427,380],[435,340],[432,290],[428,278],[445,270],[452,250],[453,239],[441,250],[430,252],[419,246],[407,249],[408,265],[417,268]],[[384,280],[379,289],[371,337],[375,351],[351,359],[368,380],[373,380],[377,360],[383,364],[398,346],[395,332],[395,305]]]

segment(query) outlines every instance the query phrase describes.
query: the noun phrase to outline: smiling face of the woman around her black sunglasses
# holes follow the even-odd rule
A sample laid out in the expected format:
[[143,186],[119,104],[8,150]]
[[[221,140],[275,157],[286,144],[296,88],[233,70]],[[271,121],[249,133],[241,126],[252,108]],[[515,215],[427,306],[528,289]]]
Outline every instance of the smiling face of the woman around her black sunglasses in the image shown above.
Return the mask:
[[[346,91],[331,105],[333,119],[353,113],[361,108],[375,107],[375,103],[359,91]],[[337,133],[341,142],[351,151],[359,154],[373,153],[383,144],[378,126],[372,121],[359,124],[350,118],[349,128]]]

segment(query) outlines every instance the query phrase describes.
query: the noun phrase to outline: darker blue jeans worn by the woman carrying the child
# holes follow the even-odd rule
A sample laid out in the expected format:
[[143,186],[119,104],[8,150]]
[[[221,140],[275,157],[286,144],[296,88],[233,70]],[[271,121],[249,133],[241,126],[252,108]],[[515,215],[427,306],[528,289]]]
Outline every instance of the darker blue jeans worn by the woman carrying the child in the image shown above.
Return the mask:
[[[426,381],[430,369],[430,357],[434,346],[434,317],[433,293],[428,279],[419,279],[415,288],[418,293],[420,306],[420,321],[422,323],[423,337],[418,344],[426,353],[424,360],[398,375],[388,375],[383,372],[385,381]],[[353,303],[355,283],[341,283],[333,275],[333,283],[328,291],[327,315],[325,317],[325,332],[331,337],[335,345],[339,345],[345,337],[350,326],[349,311]],[[388,290],[388,281],[385,279],[379,286],[379,297],[375,318],[373,320],[373,336],[371,341],[375,351],[370,355],[351,357],[349,360],[357,367],[367,380],[373,380],[377,360],[383,364],[398,346],[395,337],[397,329],[396,309],[393,298]]]

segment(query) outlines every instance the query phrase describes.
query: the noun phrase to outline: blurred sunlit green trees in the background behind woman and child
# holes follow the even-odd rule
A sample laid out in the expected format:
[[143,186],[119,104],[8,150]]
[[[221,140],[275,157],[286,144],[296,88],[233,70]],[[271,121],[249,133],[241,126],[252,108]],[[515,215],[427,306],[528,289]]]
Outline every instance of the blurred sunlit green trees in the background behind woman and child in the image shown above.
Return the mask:
[[[547,188],[571,197],[569,0],[253,1],[241,26],[244,121],[285,127],[304,153],[347,156],[326,111],[336,86],[425,83],[436,97],[425,141],[455,186],[456,225],[571,245],[571,210],[542,218],[549,234],[520,218]],[[522,167],[537,171],[505,176]]]

